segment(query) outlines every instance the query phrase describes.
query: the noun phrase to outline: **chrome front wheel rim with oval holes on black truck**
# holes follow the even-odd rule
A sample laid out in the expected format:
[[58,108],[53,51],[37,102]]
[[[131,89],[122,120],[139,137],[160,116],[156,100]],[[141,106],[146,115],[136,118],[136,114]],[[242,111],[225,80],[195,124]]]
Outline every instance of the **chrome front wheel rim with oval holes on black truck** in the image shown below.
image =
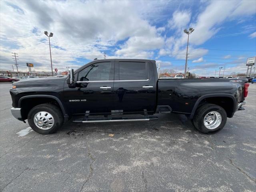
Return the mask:
[[54,118],[49,112],[40,111],[35,114],[34,123],[38,128],[48,130],[54,125]]

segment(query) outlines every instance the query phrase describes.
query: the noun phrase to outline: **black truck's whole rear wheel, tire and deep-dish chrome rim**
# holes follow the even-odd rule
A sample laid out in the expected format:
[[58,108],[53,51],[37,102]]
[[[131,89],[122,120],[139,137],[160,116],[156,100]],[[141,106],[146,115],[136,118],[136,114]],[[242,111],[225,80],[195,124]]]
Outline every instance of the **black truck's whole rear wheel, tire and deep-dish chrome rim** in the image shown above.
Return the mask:
[[[204,120],[204,118],[206,118],[206,120]],[[221,106],[205,104],[196,110],[193,122],[196,129],[200,132],[204,134],[214,134],[222,130],[225,126],[227,114]]]

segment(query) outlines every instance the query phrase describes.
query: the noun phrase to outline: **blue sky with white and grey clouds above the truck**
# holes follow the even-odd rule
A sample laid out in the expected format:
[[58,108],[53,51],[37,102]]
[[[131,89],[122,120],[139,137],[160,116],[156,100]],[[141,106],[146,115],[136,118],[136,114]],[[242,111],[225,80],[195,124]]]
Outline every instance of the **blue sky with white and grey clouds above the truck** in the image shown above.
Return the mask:
[[[94,58],[150,58],[184,71],[187,35],[190,72],[212,76],[246,72],[256,55],[255,0],[0,1],[0,69],[50,71],[78,68]],[[15,66],[14,66],[15,67]]]

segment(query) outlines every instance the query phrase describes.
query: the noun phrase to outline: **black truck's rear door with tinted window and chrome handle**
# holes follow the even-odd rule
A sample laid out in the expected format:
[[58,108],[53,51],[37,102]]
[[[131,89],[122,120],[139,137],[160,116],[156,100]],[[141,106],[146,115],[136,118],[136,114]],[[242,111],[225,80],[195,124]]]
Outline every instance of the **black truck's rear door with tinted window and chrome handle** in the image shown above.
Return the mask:
[[116,112],[153,112],[155,82],[152,63],[143,60],[116,60],[114,109]]

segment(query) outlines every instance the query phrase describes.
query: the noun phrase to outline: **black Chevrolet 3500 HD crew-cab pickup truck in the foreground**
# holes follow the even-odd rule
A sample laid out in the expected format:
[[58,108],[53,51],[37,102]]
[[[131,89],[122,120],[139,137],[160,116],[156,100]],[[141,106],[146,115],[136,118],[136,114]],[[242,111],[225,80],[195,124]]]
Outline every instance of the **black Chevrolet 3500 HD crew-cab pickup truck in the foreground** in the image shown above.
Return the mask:
[[71,118],[79,123],[148,121],[158,118],[155,113],[171,112],[185,114],[196,129],[210,134],[244,109],[247,82],[158,79],[154,60],[94,60],[68,76],[15,82],[11,112],[41,134],[56,132]]

